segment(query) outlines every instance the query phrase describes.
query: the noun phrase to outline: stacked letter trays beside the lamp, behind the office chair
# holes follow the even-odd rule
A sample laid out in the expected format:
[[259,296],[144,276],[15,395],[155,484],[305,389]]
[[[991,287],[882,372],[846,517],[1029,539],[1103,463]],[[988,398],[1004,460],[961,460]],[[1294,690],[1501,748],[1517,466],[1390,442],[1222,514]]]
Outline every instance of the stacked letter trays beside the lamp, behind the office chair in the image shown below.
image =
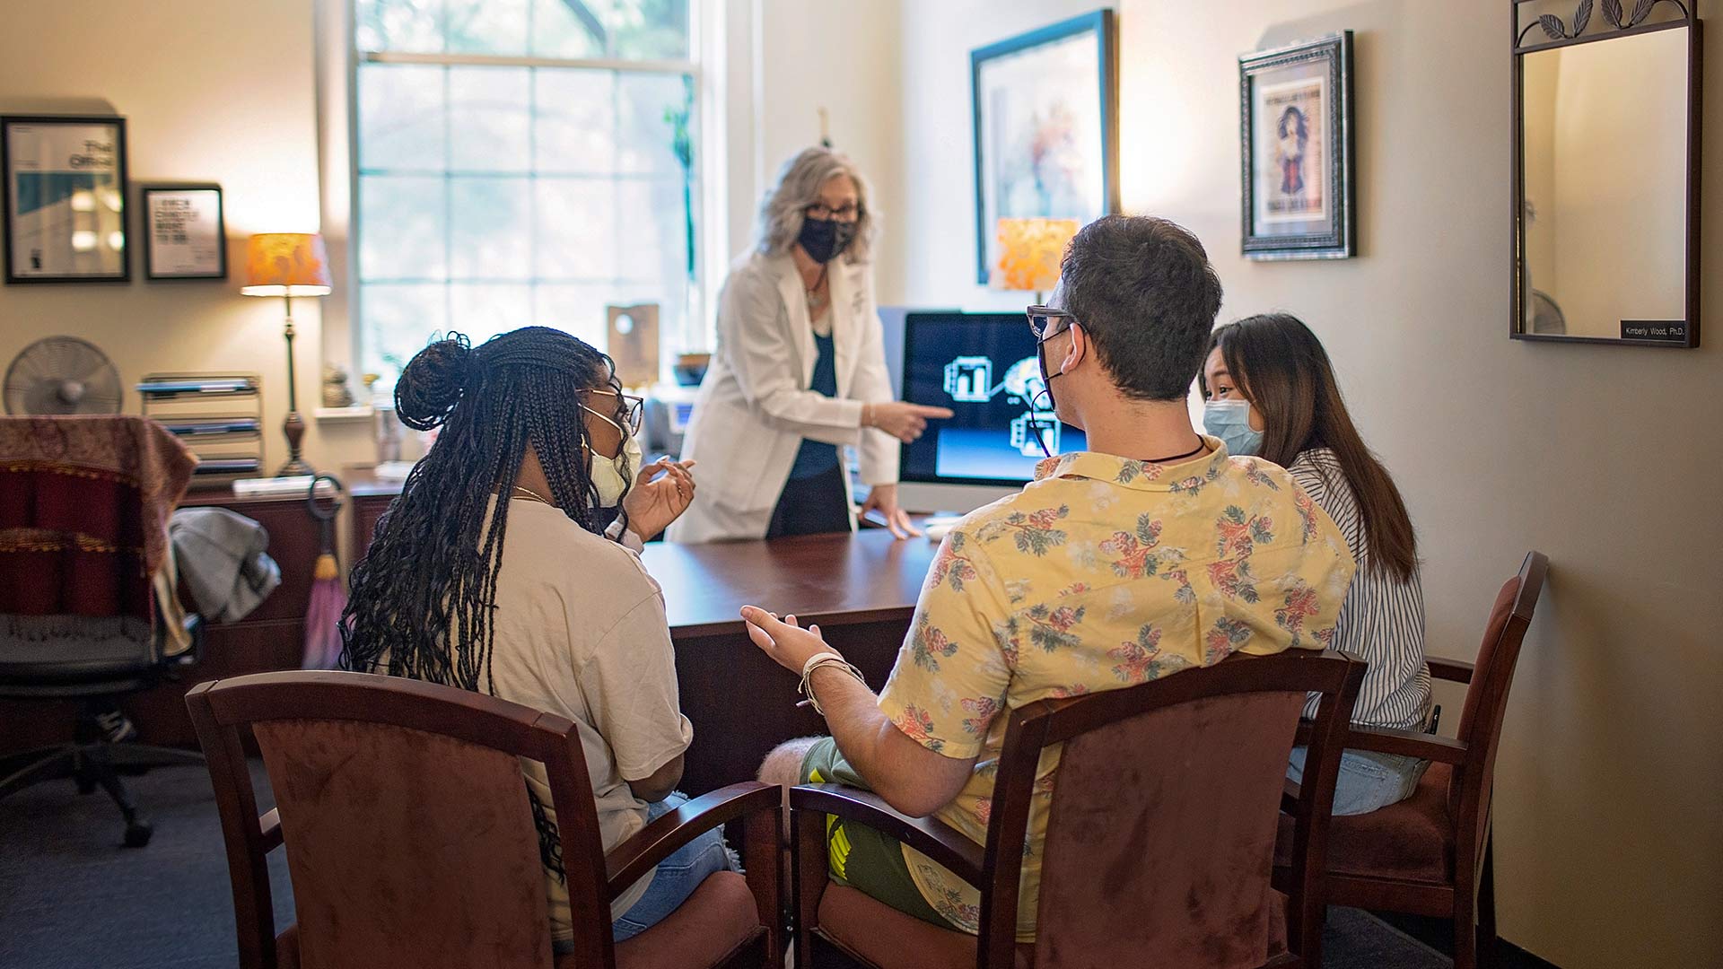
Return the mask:
[[198,457],[191,488],[215,488],[264,469],[264,393],[257,374],[145,374],[143,416]]

